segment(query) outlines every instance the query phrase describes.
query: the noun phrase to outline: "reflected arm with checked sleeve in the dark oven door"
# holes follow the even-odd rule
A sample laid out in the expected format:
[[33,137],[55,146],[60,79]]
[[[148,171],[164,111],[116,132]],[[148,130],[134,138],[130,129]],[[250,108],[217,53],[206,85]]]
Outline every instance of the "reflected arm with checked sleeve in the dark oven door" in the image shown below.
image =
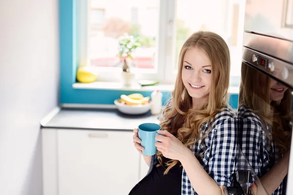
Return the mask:
[[[257,120],[251,119],[243,119],[239,120],[239,133],[241,133],[239,139],[239,146],[244,156],[240,156],[242,158],[248,160],[252,171],[257,175],[261,176],[262,167],[266,161],[265,159],[269,159],[269,156],[262,156],[261,154],[267,154],[265,152],[266,146],[266,134],[264,129],[257,122]],[[288,165],[289,165],[289,152],[285,154],[285,156],[275,164],[272,169],[261,176],[259,180],[253,178],[254,184],[250,187],[250,191],[253,195],[268,195],[272,194],[281,184],[282,180],[288,173]],[[238,159],[238,168],[247,167],[248,163],[246,160]],[[248,168],[250,169],[250,168]],[[255,180],[255,181],[254,181]]]

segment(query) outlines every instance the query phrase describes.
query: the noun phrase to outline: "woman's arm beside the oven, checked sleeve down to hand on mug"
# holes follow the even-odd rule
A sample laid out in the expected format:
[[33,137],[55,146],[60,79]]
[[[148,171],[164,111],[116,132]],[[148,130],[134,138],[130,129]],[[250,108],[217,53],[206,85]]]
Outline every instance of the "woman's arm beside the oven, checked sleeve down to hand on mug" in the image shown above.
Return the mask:
[[222,195],[222,187],[231,184],[235,168],[236,123],[234,118],[226,116],[218,117],[217,122],[220,121],[222,123],[213,129],[213,140],[210,140],[209,174],[190,149],[168,131],[157,131],[161,135],[155,137],[157,150],[163,156],[181,162],[193,189],[199,195]]

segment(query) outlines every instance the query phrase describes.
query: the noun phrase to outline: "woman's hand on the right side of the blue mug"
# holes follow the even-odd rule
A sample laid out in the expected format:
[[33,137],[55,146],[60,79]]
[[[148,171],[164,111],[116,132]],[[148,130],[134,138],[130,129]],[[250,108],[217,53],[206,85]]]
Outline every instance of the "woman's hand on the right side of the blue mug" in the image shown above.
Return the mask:
[[156,142],[155,146],[166,158],[181,161],[188,152],[191,152],[179,139],[168,131],[160,130],[157,132],[164,136],[159,135],[155,137],[157,141],[160,141]]

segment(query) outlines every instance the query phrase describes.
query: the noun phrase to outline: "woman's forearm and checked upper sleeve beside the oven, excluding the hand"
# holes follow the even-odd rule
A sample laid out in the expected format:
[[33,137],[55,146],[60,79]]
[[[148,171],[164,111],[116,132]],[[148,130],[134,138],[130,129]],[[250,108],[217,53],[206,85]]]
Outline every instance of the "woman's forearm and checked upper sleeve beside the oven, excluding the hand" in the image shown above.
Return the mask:
[[209,156],[209,174],[188,150],[180,161],[193,189],[199,195],[222,195],[223,186],[231,184],[235,169],[236,121],[225,119],[214,132]]

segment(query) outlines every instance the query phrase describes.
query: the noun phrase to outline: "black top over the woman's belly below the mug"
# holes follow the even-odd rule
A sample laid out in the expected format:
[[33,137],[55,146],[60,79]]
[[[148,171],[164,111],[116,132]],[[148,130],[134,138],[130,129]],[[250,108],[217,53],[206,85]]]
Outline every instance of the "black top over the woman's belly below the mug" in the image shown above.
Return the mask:
[[[163,162],[167,162],[168,158],[163,156]],[[178,162],[172,167],[167,175],[164,172],[167,166],[154,167],[152,171],[143,178],[130,191],[129,195],[181,195],[181,179],[183,167]]]

